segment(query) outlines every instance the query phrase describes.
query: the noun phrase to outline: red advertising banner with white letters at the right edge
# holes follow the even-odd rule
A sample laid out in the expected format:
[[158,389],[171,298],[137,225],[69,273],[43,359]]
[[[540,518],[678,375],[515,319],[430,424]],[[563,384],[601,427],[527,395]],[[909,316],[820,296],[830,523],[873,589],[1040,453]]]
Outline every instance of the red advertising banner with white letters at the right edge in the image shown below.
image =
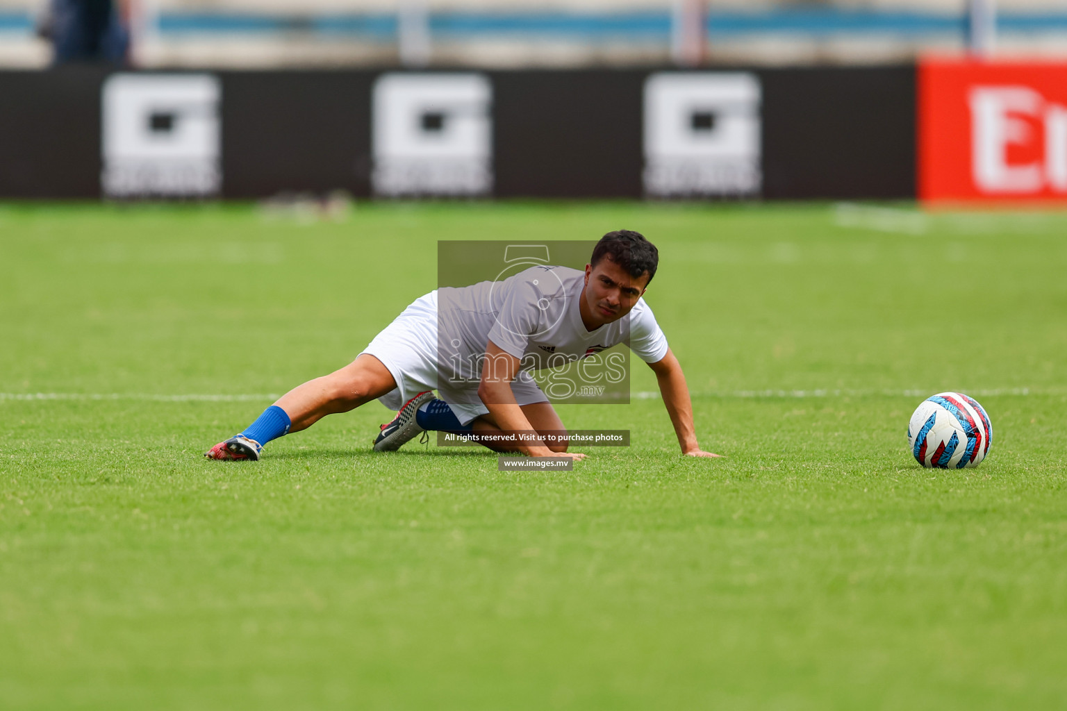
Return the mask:
[[919,197],[1067,204],[1067,63],[919,66]]

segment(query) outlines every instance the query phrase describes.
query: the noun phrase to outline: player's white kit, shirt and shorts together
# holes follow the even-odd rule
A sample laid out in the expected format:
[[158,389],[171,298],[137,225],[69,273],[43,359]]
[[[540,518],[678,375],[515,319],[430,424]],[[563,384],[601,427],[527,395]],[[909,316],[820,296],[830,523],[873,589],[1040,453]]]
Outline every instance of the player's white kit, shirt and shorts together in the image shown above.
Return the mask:
[[436,388],[461,421],[488,408],[478,397],[490,341],[520,359],[512,383],[519,404],[544,402],[530,370],[555,368],[625,343],[646,362],[667,355],[667,338],[639,298],[618,321],[587,330],[578,304],[585,272],[532,266],[500,281],[442,288],[408,307],[364,353],[393,373],[398,390],[382,403],[399,409],[420,389]]

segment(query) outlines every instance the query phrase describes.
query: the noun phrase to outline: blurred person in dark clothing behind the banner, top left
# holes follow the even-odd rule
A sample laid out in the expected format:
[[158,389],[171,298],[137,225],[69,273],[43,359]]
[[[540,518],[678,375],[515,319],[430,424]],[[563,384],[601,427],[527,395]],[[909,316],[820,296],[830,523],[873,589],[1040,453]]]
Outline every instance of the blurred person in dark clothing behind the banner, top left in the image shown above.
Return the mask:
[[49,0],[38,33],[52,44],[52,64],[126,64],[124,10],[125,0]]

